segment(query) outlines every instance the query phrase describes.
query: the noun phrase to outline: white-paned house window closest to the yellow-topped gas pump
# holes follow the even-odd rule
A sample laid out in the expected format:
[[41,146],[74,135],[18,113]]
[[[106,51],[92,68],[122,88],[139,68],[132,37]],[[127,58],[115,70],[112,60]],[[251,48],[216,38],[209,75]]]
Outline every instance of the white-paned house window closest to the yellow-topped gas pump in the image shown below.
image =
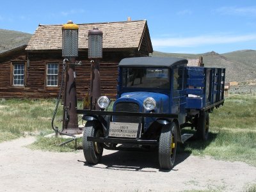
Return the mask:
[[58,86],[58,64],[47,64],[47,86]]

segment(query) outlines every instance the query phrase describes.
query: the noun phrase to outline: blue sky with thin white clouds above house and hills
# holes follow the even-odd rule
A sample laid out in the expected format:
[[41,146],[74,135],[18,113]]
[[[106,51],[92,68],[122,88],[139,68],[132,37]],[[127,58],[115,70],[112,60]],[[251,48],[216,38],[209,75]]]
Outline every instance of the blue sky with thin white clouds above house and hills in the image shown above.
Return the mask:
[[255,0],[1,1],[0,28],[146,19],[154,51],[220,53],[256,49]]

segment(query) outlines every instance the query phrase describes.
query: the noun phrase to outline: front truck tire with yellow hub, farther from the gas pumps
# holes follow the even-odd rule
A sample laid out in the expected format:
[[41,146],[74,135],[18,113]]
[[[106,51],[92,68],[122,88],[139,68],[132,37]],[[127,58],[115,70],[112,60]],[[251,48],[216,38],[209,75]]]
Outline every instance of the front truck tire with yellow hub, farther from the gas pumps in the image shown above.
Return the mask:
[[164,125],[159,138],[158,158],[162,169],[171,170],[174,166],[177,150],[177,125]]

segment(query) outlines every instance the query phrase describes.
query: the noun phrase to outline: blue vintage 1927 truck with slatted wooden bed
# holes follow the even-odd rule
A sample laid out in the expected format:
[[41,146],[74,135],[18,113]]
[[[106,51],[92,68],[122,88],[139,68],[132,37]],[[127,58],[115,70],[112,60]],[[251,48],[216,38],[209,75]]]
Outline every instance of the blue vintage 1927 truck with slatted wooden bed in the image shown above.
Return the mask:
[[188,67],[180,58],[125,58],[119,63],[113,111],[109,99],[97,100],[100,111],[80,109],[86,125],[83,151],[87,163],[99,163],[103,149],[157,147],[159,166],[172,169],[177,143],[196,130],[207,140],[209,113],[224,103],[225,68]]

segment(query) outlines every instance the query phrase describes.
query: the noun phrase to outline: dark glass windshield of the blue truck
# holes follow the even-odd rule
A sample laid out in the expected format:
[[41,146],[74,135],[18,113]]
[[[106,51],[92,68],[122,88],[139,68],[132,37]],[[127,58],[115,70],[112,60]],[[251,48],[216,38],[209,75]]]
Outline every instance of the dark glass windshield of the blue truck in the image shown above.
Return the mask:
[[168,68],[122,68],[122,86],[169,89]]

